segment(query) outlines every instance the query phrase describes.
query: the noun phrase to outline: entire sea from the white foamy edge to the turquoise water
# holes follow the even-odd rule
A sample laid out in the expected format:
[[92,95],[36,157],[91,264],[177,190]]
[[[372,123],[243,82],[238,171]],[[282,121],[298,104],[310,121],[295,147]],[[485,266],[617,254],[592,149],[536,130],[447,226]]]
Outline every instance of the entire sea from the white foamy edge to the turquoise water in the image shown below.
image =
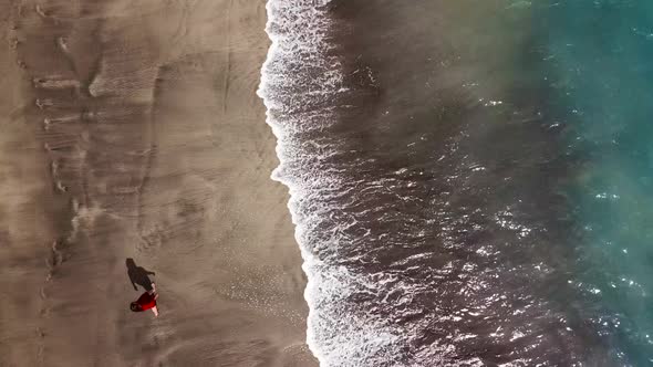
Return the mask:
[[653,364],[653,3],[267,7],[322,366]]

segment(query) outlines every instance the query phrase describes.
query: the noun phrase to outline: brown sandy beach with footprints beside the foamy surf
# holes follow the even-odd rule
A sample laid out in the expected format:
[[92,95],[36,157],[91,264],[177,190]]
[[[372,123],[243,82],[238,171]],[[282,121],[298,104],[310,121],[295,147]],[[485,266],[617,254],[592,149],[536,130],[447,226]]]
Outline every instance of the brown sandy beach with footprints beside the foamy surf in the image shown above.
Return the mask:
[[[0,17],[0,366],[315,366],[256,96],[265,1]],[[129,312],[127,259],[158,318]]]

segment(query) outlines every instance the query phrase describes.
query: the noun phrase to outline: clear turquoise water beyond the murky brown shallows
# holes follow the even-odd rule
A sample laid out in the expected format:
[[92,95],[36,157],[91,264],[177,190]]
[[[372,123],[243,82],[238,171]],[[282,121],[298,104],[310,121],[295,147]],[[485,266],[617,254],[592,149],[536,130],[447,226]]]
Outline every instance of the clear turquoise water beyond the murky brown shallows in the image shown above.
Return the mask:
[[653,3],[533,4],[556,118],[574,171],[561,182],[578,226],[571,282],[624,364],[653,363]]

